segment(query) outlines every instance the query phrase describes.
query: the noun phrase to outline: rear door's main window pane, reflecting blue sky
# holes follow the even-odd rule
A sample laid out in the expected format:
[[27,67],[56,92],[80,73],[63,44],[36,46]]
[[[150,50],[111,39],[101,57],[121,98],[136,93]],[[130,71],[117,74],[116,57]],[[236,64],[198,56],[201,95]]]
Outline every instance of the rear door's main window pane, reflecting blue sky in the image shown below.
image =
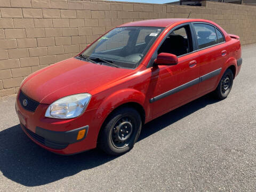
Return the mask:
[[206,24],[194,24],[199,49],[217,44],[215,28]]

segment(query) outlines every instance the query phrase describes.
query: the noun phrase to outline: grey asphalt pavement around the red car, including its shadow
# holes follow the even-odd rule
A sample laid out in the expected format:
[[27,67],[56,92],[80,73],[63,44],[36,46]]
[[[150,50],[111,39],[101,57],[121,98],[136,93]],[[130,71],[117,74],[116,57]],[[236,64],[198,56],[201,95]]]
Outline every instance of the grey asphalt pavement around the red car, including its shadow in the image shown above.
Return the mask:
[[227,99],[205,95],[143,127],[119,157],[60,156],[22,132],[0,98],[0,191],[256,191],[256,44]]

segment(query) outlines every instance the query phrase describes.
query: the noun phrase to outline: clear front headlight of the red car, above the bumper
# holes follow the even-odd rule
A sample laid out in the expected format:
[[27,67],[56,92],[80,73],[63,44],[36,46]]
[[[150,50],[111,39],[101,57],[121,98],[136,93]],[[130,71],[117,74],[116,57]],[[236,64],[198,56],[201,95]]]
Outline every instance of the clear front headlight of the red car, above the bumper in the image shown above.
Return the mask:
[[89,93],[81,93],[63,97],[47,108],[45,117],[60,119],[77,117],[85,111],[91,96]]

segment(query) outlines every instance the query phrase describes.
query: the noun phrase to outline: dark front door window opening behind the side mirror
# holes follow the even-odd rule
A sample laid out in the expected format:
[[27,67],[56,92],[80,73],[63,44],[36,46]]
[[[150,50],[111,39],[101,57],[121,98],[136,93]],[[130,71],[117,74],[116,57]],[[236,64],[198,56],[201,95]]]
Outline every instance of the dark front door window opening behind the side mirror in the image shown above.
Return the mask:
[[157,53],[171,53],[178,57],[191,51],[193,51],[192,38],[189,25],[186,25],[172,31]]

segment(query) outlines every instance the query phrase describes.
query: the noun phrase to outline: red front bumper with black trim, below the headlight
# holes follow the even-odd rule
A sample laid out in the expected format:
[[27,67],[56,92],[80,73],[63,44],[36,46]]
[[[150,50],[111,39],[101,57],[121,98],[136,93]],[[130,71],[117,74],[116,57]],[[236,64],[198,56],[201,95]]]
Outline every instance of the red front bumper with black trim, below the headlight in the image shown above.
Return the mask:
[[[39,103],[34,112],[28,111],[22,107],[19,94],[20,91],[15,107],[22,130],[37,145],[62,155],[80,153],[97,146],[100,127],[109,111],[97,108],[84,111],[83,115],[73,119],[47,118],[44,114],[49,105]],[[78,138],[82,130],[85,130],[84,136]]]

